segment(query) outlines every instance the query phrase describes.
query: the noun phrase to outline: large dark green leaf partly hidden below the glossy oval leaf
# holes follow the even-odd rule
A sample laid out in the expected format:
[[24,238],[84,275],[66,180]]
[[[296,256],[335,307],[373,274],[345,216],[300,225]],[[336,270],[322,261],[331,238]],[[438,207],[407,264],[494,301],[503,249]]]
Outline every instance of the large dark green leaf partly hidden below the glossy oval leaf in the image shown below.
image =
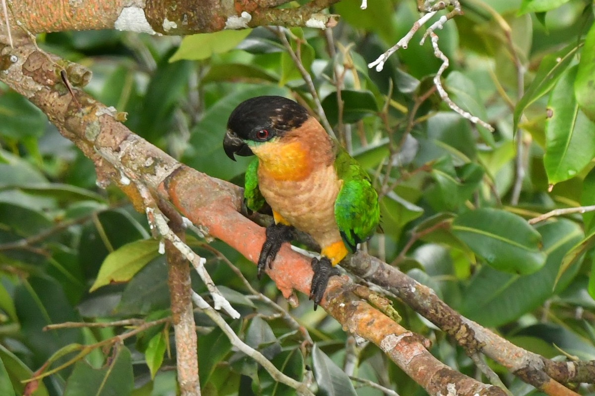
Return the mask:
[[569,220],[559,220],[540,225],[537,230],[543,236],[543,251],[547,254],[543,268],[530,275],[507,274],[487,266],[480,268],[462,292],[465,297],[458,308],[462,315],[481,325],[498,327],[533,311],[568,287],[580,263],[572,264],[556,286],[555,279],[563,256],[583,239],[581,227]]

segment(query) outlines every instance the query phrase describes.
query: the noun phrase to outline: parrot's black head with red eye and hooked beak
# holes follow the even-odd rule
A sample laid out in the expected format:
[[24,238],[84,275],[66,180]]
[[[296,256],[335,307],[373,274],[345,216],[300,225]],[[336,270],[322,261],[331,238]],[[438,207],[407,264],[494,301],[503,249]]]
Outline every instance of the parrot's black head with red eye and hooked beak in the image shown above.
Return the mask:
[[282,96],[257,96],[240,103],[231,112],[223,148],[228,157],[250,156],[247,142],[265,142],[299,128],[308,111]]

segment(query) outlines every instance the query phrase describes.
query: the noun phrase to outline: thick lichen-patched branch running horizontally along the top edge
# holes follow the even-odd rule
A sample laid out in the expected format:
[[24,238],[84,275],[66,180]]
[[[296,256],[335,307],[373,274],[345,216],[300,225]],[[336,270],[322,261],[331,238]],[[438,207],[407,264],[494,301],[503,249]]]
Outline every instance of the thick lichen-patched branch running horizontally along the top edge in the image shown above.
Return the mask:
[[[337,24],[337,15],[321,13],[338,0],[314,0],[301,7],[277,9],[276,1],[165,0],[19,0],[8,3],[8,25],[30,33],[117,29],[149,34],[195,34],[224,28],[264,25]],[[2,30],[0,30],[1,32]]]

